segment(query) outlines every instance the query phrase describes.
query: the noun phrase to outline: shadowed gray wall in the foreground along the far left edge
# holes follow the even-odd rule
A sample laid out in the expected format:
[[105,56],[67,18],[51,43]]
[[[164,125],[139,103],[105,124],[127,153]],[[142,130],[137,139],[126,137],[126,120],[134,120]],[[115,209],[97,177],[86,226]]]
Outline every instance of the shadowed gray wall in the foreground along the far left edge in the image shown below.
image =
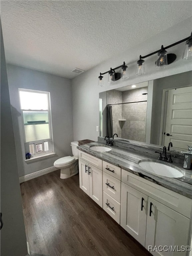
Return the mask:
[[11,104],[1,29],[1,256],[27,255]]

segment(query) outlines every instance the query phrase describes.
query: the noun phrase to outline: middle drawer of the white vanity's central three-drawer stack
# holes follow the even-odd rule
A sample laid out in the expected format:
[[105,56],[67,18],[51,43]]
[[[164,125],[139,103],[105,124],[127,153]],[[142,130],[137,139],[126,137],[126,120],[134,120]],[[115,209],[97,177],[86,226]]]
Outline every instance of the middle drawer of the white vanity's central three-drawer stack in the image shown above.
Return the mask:
[[[108,184],[108,185],[106,185]],[[103,172],[103,191],[120,203],[121,181]]]

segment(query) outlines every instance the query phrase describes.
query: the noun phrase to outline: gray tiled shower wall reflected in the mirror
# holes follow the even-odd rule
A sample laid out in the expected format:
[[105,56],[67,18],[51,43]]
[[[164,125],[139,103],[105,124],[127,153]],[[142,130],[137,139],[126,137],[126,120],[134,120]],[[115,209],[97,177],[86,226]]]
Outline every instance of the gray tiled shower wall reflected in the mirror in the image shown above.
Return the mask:
[[[147,87],[107,92],[107,104],[126,103],[147,100]],[[145,142],[147,102],[112,105],[113,133],[129,140]],[[125,119],[125,121],[120,121]]]

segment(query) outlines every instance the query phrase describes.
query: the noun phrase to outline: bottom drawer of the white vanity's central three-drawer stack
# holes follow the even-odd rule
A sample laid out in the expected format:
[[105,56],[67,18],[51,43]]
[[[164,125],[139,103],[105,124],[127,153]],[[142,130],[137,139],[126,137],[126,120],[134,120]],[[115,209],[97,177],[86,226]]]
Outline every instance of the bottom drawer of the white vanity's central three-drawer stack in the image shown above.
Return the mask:
[[118,224],[120,224],[120,203],[118,203],[115,199],[106,194],[104,191],[103,210],[105,210]]

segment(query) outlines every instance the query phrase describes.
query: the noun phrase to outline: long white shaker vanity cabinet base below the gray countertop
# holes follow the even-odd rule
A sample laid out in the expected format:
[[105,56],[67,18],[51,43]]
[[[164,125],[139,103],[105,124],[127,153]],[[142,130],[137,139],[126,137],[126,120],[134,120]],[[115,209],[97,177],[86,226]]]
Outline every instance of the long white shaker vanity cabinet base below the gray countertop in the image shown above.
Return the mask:
[[79,176],[80,188],[147,250],[148,246],[190,244],[192,199],[80,150]]

